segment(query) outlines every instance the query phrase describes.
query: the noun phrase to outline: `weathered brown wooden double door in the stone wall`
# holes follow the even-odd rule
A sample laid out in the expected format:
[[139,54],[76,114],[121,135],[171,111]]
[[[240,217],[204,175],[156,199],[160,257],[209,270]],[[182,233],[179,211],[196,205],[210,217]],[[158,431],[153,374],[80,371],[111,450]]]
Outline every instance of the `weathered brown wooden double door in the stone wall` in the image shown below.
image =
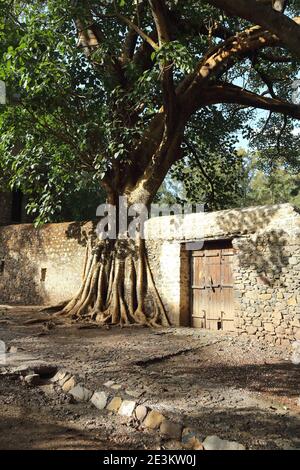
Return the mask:
[[206,242],[192,252],[192,326],[234,330],[232,261],[229,240]]

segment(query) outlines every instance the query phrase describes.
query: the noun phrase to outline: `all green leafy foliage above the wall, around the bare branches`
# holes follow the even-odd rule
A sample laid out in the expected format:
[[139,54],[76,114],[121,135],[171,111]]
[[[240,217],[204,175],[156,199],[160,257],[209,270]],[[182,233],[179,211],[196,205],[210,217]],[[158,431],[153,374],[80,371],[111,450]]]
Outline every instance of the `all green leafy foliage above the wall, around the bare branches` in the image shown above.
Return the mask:
[[[151,34],[148,2],[139,18],[139,2],[115,3],[122,15],[135,18]],[[233,32],[248,25],[204,2],[167,3],[174,22],[180,19],[183,26],[159,50],[149,46],[148,55],[125,60],[120,72],[128,27],[115,15],[114,2],[0,0],[0,79],[7,84],[9,99],[9,106],[0,107],[0,174],[11,187],[26,193],[28,210],[37,223],[56,220],[60,212],[63,216],[66,201],[74,195],[98,197],[104,174],[116,162],[124,167],[130,164],[133,150],[162,106],[162,64],[172,64],[177,85],[221,40],[200,34],[199,25],[222,26]],[[292,10],[299,13],[297,2],[291,2]],[[89,60],[78,43],[77,18],[101,27],[101,46],[92,51]],[[145,48],[140,38],[136,48],[138,52]],[[287,64],[260,60],[259,66],[250,59],[235,64],[222,79],[263,91],[259,74],[265,72],[275,81],[274,92],[291,98],[291,83],[299,68],[295,59]],[[191,119],[185,141],[197,149],[199,158],[184,145],[185,159],[171,172],[173,180],[184,185],[184,194],[177,198],[205,200],[210,209],[238,204],[247,170],[235,151],[236,139],[238,135],[253,136],[249,123],[256,118],[253,111],[220,105],[207,107]],[[278,132],[270,130],[264,143],[263,152],[271,162],[278,155],[277,137]],[[299,145],[294,145],[294,137],[289,120],[280,171],[285,169],[284,162],[289,162],[289,168],[298,165],[295,149]],[[253,145],[262,150],[260,138]]]

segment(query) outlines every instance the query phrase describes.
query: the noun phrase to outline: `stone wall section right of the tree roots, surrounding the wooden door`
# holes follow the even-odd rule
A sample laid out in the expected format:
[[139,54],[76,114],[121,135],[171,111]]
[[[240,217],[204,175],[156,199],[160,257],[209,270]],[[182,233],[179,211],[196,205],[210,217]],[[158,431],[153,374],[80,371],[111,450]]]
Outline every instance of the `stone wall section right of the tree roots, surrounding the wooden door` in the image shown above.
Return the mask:
[[186,243],[232,239],[235,327],[270,342],[300,339],[300,215],[289,204],[161,217],[148,222],[149,258],[173,324],[190,322]]

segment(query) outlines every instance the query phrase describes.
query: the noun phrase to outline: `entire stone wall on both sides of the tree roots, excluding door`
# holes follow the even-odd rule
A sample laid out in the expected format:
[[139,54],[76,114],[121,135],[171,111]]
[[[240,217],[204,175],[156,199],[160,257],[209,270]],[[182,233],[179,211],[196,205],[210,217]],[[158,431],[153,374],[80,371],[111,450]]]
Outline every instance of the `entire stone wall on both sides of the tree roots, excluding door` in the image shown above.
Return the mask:
[[[0,303],[49,304],[81,283],[92,223],[0,227]],[[151,219],[146,241],[153,276],[172,324],[190,324],[187,243],[231,239],[235,326],[240,334],[300,339],[300,216],[289,204]],[[148,301],[150,301],[148,299]]]

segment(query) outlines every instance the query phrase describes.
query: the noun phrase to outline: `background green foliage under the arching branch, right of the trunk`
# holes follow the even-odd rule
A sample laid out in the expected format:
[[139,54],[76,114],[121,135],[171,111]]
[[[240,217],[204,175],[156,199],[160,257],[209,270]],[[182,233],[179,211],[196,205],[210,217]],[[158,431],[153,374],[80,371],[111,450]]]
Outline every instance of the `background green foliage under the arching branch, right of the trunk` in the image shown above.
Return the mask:
[[213,107],[196,115],[185,139],[186,158],[171,170],[172,178],[183,183],[180,201],[201,202],[206,210],[240,205],[247,171],[236,150],[236,120],[231,107],[222,111]]

